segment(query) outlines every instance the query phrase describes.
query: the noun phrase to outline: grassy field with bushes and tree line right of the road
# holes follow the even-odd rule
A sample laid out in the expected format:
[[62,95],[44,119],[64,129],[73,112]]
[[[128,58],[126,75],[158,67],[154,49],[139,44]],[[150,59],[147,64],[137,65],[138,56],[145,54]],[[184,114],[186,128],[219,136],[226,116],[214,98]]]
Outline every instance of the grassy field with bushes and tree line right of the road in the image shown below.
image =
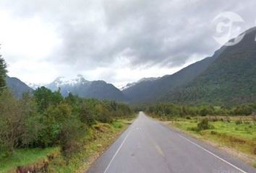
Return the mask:
[[256,161],[256,105],[214,107],[161,104],[148,107],[152,117],[221,147],[246,154],[246,161]]

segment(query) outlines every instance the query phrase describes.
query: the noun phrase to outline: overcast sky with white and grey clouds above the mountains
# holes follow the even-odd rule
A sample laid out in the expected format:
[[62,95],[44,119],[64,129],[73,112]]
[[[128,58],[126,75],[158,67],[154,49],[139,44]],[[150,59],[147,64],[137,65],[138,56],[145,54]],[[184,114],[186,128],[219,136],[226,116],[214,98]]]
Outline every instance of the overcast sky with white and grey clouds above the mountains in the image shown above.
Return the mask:
[[27,83],[82,74],[121,86],[211,56],[221,47],[213,19],[237,14],[237,35],[255,26],[255,7],[256,0],[1,0],[0,54],[9,76]]

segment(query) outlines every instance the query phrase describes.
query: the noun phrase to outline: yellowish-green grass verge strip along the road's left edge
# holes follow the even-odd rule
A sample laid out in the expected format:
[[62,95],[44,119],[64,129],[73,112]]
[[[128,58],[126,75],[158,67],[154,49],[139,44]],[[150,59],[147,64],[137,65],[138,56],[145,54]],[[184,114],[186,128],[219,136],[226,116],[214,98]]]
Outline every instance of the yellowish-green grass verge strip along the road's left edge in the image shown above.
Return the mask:
[[65,161],[65,158],[59,155],[49,164],[48,172],[85,172],[127,128],[128,124],[127,120],[114,120],[111,124],[93,125],[82,139],[82,150],[74,154],[69,161]]

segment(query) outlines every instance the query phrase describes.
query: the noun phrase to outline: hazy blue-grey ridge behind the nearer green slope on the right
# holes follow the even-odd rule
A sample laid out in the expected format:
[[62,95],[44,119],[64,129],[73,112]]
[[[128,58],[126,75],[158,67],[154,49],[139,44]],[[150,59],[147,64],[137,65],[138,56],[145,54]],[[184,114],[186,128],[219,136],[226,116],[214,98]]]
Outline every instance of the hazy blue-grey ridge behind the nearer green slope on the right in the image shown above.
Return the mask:
[[170,92],[178,86],[188,84],[189,81],[195,79],[202,71],[218,58],[218,55],[225,47],[216,51],[212,57],[203,59],[193,63],[181,71],[172,75],[166,75],[155,80],[140,81],[132,86],[127,87],[122,92],[129,99],[129,102],[154,102],[159,96]]

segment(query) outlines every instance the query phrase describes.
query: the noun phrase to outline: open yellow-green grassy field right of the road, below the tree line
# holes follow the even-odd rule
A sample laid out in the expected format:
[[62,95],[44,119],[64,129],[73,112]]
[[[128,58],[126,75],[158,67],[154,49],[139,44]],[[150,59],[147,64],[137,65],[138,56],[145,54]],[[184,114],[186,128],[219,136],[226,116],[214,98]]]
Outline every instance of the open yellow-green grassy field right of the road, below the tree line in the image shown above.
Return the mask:
[[[198,130],[197,124],[203,118],[209,120],[210,128]],[[256,125],[252,117],[176,118],[168,121],[168,125],[223,148],[256,167]]]

